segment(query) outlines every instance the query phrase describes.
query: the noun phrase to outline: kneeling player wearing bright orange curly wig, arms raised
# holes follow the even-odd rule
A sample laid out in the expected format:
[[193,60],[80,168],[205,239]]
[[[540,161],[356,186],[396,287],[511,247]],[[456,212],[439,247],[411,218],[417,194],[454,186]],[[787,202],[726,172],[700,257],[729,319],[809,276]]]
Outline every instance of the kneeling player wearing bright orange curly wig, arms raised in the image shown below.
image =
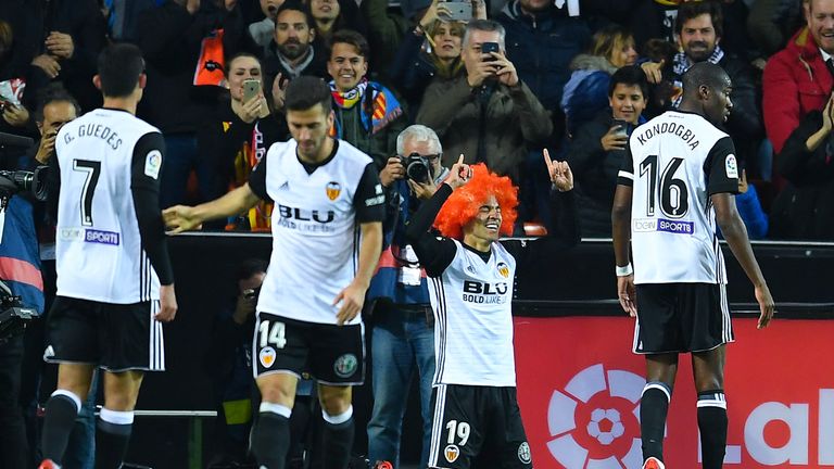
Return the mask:
[[[553,182],[556,226],[523,246],[497,242],[513,232],[518,205],[509,178],[463,155],[450,177],[415,214],[407,237],[430,278],[437,367],[432,394],[430,468],[531,468],[516,398],[513,284],[516,258],[535,258],[579,241],[573,176],[567,163],[544,154]],[[438,239],[429,232],[432,223]]]

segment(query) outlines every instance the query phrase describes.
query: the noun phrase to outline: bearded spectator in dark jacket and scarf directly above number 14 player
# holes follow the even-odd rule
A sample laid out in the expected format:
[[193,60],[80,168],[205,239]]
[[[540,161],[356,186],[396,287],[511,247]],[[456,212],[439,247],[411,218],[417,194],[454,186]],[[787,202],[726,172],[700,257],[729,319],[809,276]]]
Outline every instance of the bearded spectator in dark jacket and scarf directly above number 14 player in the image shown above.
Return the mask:
[[[273,90],[277,111],[283,111],[283,91],[292,78],[301,75],[327,77],[326,54],[313,47],[315,37],[313,15],[305,4],[288,0],[278,8],[275,34],[264,59],[264,89]],[[273,88],[276,79],[280,86]]]

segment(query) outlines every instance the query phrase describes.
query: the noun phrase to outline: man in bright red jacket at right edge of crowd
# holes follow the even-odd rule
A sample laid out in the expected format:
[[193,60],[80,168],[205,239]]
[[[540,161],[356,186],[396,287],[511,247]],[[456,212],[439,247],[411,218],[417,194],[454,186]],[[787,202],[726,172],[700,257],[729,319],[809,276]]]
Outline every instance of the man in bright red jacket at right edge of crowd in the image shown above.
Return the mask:
[[834,85],[834,65],[825,63],[834,54],[834,0],[811,0],[807,9],[807,27],[764,67],[764,128],[775,153],[806,114],[825,106]]

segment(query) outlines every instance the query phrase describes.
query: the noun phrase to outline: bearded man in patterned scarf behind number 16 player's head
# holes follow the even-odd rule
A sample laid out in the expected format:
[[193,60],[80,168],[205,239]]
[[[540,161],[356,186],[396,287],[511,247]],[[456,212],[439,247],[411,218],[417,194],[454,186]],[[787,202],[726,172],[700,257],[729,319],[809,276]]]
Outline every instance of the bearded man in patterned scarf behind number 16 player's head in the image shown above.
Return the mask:
[[[670,68],[664,71],[664,79],[672,84],[671,102],[674,107],[683,97],[683,74],[698,62],[713,63],[726,72],[733,83],[730,101],[733,113],[722,127],[736,144],[742,161],[757,148],[761,137],[761,117],[756,103],[756,84],[750,66],[728,53],[721,46],[723,35],[721,5],[713,1],[686,2],[678,10],[675,33],[682,52]],[[661,110],[660,110],[661,111]],[[649,111],[650,113],[650,111]]]

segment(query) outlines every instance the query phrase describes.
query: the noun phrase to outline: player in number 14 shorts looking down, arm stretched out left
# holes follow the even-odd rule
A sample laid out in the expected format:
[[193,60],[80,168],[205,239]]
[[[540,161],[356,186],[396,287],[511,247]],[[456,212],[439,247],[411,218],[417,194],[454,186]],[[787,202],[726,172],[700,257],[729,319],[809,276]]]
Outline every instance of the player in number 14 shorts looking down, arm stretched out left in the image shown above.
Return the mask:
[[341,469],[353,446],[351,385],[365,376],[358,314],[382,251],[384,194],[370,157],[327,136],[333,112],[324,81],[293,79],[285,107],[292,140],[269,148],[248,183],[163,215],[182,231],[262,199],[275,202],[273,254],[256,307],[253,369],[262,403],[252,452],[262,468],[285,467],[295,386],[309,370],[325,419],[314,461]]

